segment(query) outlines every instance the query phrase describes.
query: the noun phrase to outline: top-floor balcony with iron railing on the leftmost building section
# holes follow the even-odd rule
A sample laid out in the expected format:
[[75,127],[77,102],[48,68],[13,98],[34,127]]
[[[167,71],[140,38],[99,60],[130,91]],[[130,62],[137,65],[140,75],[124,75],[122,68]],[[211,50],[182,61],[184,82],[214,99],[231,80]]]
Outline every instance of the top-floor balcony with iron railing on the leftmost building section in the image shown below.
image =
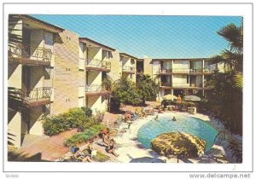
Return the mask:
[[23,43],[9,43],[9,62],[27,66],[50,66],[51,49],[26,45]]

